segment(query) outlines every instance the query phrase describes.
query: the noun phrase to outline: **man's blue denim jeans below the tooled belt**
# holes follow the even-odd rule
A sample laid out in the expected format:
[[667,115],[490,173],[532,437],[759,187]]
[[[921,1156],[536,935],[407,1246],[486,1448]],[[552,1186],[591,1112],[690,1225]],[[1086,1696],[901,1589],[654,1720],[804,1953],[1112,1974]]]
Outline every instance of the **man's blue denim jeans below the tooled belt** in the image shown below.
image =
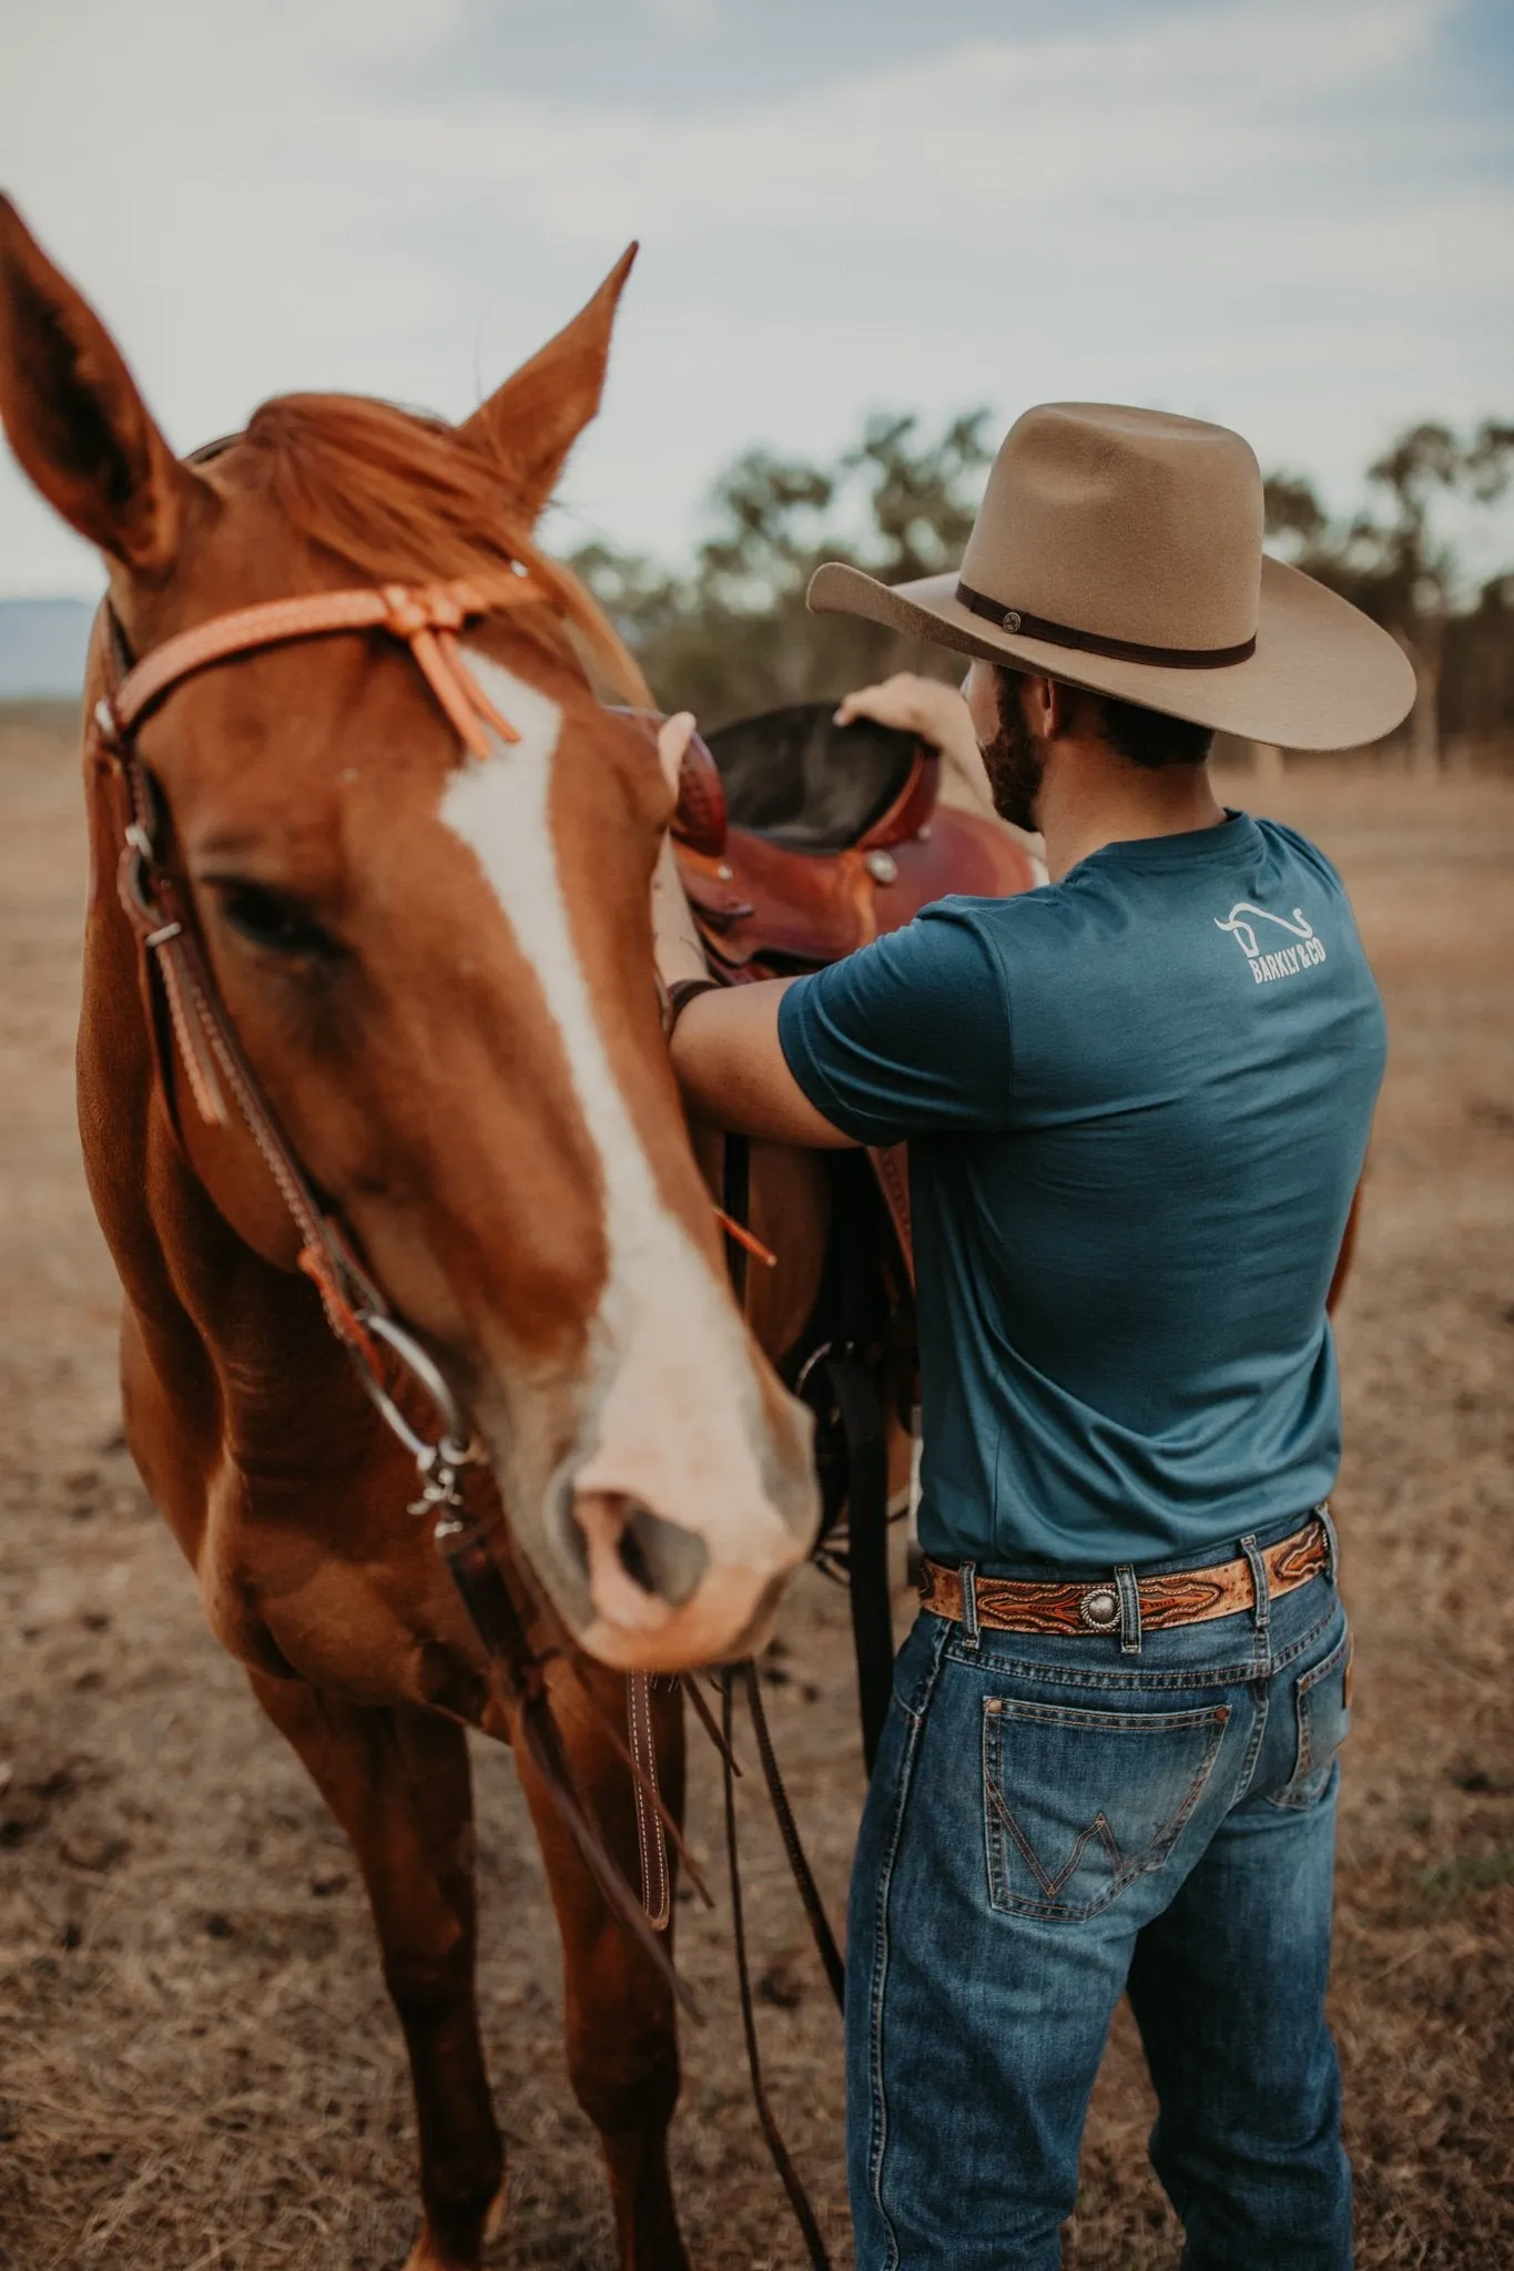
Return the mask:
[[919,1617],[851,1880],[858,2271],[1053,2271],[1124,1992],[1185,2271],[1348,2271],[1323,2017],[1348,1653],[1328,1574],[1139,1653]]

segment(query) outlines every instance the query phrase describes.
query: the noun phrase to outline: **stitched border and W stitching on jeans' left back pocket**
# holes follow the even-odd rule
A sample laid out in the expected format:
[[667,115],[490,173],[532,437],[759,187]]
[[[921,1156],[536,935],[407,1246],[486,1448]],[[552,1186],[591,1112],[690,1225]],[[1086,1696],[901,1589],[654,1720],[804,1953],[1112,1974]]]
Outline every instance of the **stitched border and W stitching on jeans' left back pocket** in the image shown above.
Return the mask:
[[[1119,1840],[1115,1835],[1108,1812],[1099,1808],[1094,1819],[1076,1835],[1067,1862],[1055,1871],[1055,1876],[1051,1876],[1003,1796],[999,1753],[1001,1753],[1001,1735],[1006,1719],[1010,1724],[1028,1721],[1031,1726],[1035,1724],[1074,1726],[1074,1728],[1085,1726],[1103,1735],[1171,1735],[1180,1733],[1183,1728],[1208,1728],[1210,1735],[1187,1792],[1183,1794],[1180,1803],[1169,1815],[1169,1819],[1158,1830],[1155,1837],[1146,1840],[1142,1849],[1126,1860],[1119,1849]],[[1174,1712],[1105,1712],[1105,1710],[1078,1710],[1076,1706],[1060,1706],[1060,1703],[1026,1703],[1006,1696],[985,1696],[983,1794],[987,1799],[985,1840],[987,1840],[990,1903],[1001,1912],[1021,1917],[1044,1917],[1069,1924],[1083,1921],[1085,1917],[1094,1917],[1099,1914],[1101,1908],[1108,1908],[1110,1901],[1115,1901],[1126,1889],[1126,1885],[1130,1885],[1137,1876],[1144,1876],[1151,1869],[1160,1867],[1171,1853],[1174,1844],[1183,1835],[1183,1828],[1187,1826],[1210,1780],[1210,1774],[1214,1769],[1214,1758],[1219,1753],[1219,1744],[1223,1742],[1228,1721],[1230,1721],[1228,1703],[1214,1703]],[[1040,1885],[1044,1899],[1037,1901],[1033,1896],[1010,1889],[1003,1871],[1001,1837],[994,1835],[994,1826],[999,1826],[1001,1837],[1010,1840],[1021,1862]],[[1110,1858],[1112,1874],[1108,1885],[1103,1885],[1103,1889],[1092,1901],[1083,1903],[1060,1901],[1058,1894],[1074,1880],[1094,1840],[1103,1846],[1103,1851]]]

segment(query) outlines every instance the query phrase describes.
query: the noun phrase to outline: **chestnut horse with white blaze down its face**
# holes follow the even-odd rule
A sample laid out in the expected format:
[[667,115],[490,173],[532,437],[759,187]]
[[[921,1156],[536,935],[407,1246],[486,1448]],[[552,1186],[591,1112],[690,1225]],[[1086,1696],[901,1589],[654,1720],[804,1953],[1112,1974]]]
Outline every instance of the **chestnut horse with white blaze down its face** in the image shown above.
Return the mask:
[[[749,1653],[810,1547],[817,1494],[808,1413],[729,1297],[667,1070],[649,883],[672,786],[649,736],[595,697],[581,645],[631,699],[645,690],[531,540],[597,409],[626,270],[459,427],[293,395],[179,463],[100,320],[0,200],[0,418],[109,565],[91,695],[107,640],[154,656],[291,595],[404,586],[404,602],[465,579],[499,602],[468,631],[468,668],[513,740],[495,731],[481,754],[463,754],[418,650],[384,629],[195,668],[134,749],[184,929],[252,1076],[477,1417],[495,1560],[558,1640],[556,1726],[629,1874],[624,1671]],[[533,604],[506,604],[522,572]],[[127,1438],[213,1633],[356,1851],[415,2089],[424,2226],[409,2271],[477,2271],[504,2153],[474,2010],[465,1728],[508,1742],[515,1712],[409,1510],[411,1460],[295,1267],[300,1235],[250,1126],[195,1108],[173,1002],[116,888],[120,759],[98,736],[86,749],[79,1122],[125,1290]],[[788,1179],[799,1210],[819,1206],[797,1160]],[[765,1290],[769,1344],[797,1331],[819,1267],[819,1222],[804,1238],[797,1224],[801,1258]],[[676,1812],[676,1690],[654,1696],[654,1740]],[[518,1765],[620,2262],[676,2271],[667,1976],[520,1742]]]

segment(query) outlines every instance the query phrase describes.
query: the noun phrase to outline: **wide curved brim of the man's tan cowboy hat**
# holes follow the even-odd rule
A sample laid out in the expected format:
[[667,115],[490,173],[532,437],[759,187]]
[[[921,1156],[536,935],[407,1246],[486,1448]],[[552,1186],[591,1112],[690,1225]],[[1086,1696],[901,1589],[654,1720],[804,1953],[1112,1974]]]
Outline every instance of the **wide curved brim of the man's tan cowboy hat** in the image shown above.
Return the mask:
[[829,561],[810,579],[808,604],[819,615],[865,615],[940,647],[1282,749],[1355,749],[1391,734],[1414,706],[1414,668],[1396,638],[1339,593],[1269,556],[1255,654],[1221,668],[1130,663],[996,631],[962,606],[956,586],[956,575],[933,575],[890,588]]

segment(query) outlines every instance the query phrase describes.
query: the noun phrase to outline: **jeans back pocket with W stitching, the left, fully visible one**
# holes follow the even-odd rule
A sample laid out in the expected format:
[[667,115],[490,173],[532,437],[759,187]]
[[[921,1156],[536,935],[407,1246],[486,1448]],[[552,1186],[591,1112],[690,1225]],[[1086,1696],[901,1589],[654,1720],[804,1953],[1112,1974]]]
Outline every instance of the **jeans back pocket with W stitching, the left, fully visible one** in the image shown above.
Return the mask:
[[1228,1703],[1080,1710],[983,1703],[987,1894],[1017,1917],[1078,1921],[1176,1844],[1210,1778]]

